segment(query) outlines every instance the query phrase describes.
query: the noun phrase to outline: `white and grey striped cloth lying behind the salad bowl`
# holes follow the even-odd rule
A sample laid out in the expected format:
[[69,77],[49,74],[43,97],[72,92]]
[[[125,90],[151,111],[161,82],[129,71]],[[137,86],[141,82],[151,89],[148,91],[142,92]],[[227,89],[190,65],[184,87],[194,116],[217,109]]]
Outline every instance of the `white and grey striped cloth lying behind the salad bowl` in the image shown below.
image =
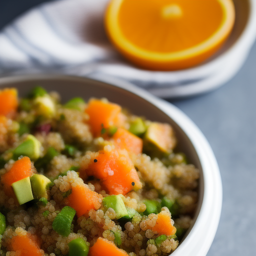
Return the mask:
[[210,89],[216,74],[223,76],[222,67],[227,64],[223,60],[214,68],[208,64],[203,68],[165,72],[143,70],[130,64],[105,35],[103,17],[107,2],[56,0],[18,17],[0,32],[0,75],[52,72],[110,75],[158,96],[173,97]]

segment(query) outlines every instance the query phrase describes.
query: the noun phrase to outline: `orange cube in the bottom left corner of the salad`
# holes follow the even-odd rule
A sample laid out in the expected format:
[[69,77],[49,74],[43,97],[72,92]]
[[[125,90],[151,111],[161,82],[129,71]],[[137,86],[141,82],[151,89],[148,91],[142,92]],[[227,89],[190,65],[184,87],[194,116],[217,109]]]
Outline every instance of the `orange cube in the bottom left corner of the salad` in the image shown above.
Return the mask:
[[36,239],[28,233],[21,236],[13,236],[10,240],[10,247],[11,250],[20,252],[19,256],[43,255]]

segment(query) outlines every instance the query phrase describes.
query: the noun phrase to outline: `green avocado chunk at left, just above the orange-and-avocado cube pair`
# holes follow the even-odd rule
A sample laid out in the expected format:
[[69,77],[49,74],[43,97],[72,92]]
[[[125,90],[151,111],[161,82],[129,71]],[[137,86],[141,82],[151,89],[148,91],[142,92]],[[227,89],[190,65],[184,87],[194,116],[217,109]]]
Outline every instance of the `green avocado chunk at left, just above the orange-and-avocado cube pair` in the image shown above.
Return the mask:
[[28,156],[31,160],[36,160],[40,154],[41,143],[33,135],[27,135],[26,139],[13,151],[13,158],[17,159],[20,155]]

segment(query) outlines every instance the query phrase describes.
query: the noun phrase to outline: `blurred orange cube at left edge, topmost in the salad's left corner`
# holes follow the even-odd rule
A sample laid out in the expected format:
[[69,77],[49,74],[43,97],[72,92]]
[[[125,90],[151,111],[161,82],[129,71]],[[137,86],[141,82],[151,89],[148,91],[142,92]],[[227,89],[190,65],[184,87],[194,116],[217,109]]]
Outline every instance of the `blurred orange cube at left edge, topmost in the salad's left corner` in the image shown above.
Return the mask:
[[0,90],[0,115],[13,114],[18,106],[17,90],[6,88]]

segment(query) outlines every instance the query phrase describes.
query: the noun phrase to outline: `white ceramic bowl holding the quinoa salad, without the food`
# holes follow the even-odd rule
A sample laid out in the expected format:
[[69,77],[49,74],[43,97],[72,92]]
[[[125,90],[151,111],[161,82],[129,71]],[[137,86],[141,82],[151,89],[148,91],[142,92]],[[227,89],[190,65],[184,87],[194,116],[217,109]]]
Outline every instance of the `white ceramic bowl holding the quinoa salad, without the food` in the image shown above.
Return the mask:
[[[104,78],[106,80],[106,78]],[[16,87],[24,96],[35,85],[56,90],[63,101],[81,96],[107,97],[137,115],[170,123],[183,151],[200,171],[199,198],[193,224],[172,256],[205,256],[215,235],[222,203],[220,174],[213,152],[200,130],[178,108],[132,84],[108,79],[108,82],[75,76],[15,76],[0,78],[0,88]]]

